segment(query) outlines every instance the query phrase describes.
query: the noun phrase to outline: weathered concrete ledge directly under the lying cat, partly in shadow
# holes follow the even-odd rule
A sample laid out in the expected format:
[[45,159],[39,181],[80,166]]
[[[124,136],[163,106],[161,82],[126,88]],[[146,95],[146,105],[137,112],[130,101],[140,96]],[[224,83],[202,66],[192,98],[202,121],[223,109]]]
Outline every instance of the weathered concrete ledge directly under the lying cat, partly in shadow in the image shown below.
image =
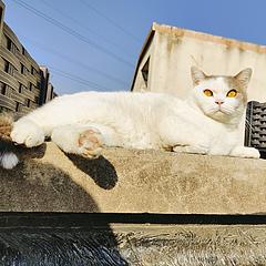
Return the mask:
[[0,170],[0,212],[266,213],[266,161],[105,150],[88,160],[53,143]]

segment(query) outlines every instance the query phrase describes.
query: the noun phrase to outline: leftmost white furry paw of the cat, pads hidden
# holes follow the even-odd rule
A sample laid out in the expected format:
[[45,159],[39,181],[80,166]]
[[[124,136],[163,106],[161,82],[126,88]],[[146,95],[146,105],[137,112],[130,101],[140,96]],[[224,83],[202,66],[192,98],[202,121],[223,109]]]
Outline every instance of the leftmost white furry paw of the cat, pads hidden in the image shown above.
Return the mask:
[[14,123],[10,136],[14,143],[24,144],[27,147],[39,146],[44,142],[41,127],[27,119]]

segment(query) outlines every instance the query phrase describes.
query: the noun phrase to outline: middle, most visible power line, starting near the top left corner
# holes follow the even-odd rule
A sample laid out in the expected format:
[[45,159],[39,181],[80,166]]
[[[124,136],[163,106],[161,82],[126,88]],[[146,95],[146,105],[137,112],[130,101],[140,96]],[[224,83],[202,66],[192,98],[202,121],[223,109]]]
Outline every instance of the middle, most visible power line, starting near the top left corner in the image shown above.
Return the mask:
[[62,24],[62,23],[59,22],[58,20],[55,20],[55,19],[53,19],[53,18],[44,14],[43,12],[37,10],[35,8],[33,8],[33,7],[31,7],[30,4],[25,3],[24,1],[22,1],[22,0],[13,0],[13,1],[17,2],[18,4],[20,4],[21,7],[23,7],[24,9],[29,10],[30,12],[34,13],[35,16],[38,16],[38,17],[47,20],[47,21],[50,22],[51,24],[60,28],[61,30],[63,30],[64,32],[69,33],[70,35],[75,37],[75,38],[79,39],[80,41],[83,41],[83,42],[88,43],[89,45],[95,48],[96,50],[100,50],[101,52],[103,52],[103,53],[108,54],[109,57],[111,57],[111,58],[120,61],[121,63],[124,63],[124,64],[127,65],[127,66],[131,66],[131,68],[134,66],[131,62],[122,59],[121,57],[116,55],[116,54],[113,53],[112,51],[110,51],[110,50],[108,50],[108,49],[105,49],[105,48],[96,44],[95,42],[91,41],[90,39],[81,35],[79,32],[72,30],[71,28]]

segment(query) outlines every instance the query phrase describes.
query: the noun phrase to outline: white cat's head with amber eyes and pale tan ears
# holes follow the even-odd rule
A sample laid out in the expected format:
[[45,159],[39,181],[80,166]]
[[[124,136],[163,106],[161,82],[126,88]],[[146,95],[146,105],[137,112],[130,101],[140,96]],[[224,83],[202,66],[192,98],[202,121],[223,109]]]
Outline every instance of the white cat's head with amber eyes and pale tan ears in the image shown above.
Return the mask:
[[194,90],[193,101],[205,115],[222,123],[234,123],[243,115],[247,104],[246,89],[252,69],[236,75],[206,75],[200,69],[191,69]]

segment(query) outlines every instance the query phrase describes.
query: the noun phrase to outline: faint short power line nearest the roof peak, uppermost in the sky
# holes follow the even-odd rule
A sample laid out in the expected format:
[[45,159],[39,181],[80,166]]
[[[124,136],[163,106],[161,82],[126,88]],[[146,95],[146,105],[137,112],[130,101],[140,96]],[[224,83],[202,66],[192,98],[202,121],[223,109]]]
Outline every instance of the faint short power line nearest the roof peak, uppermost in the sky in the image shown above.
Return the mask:
[[76,20],[75,18],[73,18],[73,17],[66,14],[65,12],[63,12],[62,10],[55,8],[53,4],[51,4],[51,3],[48,2],[47,0],[41,0],[41,2],[42,2],[43,4],[45,4],[47,7],[49,7],[50,9],[52,9],[52,10],[57,11],[58,13],[60,13],[62,17],[69,19],[69,20],[72,21],[72,22],[74,22],[75,24],[78,24],[78,25],[81,27],[82,29],[86,30],[88,32],[96,35],[98,38],[100,38],[100,39],[102,39],[102,40],[104,40],[105,42],[114,45],[115,48],[122,48],[121,44],[115,43],[115,42],[113,42],[112,40],[105,38],[104,35],[99,34],[96,31],[94,31],[94,30],[92,30],[91,28],[84,25],[83,23],[81,23],[81,22],[80,22],[79,20]]

